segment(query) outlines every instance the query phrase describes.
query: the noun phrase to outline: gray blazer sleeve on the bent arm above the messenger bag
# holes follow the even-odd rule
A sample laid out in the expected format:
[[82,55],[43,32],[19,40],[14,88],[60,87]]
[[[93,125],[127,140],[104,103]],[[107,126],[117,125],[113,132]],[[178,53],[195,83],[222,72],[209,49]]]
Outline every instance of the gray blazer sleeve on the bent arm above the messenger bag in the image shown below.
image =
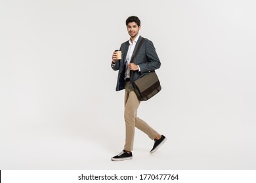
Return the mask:
[[148,39],[146,40],[146,58],[148,59],[146,63],[139,64],[140,73],[146,73],[160,68],[161,62],[156,53],[156,48],[153,42]]

